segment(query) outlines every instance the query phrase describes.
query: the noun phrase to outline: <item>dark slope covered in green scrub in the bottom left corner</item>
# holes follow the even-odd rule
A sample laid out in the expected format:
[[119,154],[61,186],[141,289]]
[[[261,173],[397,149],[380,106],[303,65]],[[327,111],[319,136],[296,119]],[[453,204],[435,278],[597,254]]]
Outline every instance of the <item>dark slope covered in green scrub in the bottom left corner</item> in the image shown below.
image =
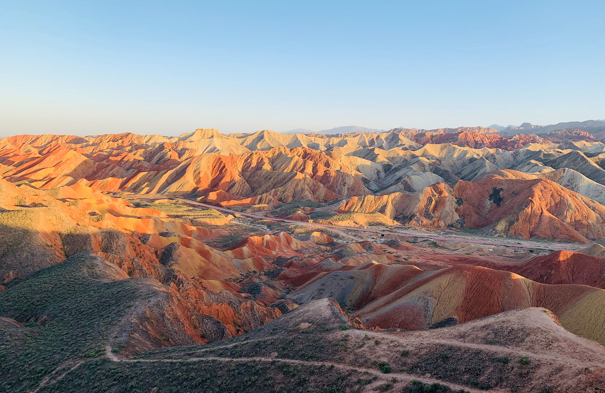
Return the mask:
[[103,354],[108,331],[139,290],[129,281],[91,278],[93,272],[74,256],[0,292],[0,315],[27,323],[1,334],[0,390],[27,391],[67,360]]

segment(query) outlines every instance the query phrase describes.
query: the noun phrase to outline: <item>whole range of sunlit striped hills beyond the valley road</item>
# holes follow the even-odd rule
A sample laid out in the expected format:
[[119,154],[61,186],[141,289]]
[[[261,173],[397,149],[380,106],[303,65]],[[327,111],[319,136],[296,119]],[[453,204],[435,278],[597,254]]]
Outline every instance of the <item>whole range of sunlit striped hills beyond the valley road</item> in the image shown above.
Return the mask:
[[[20,135],[1,140],[0,164],[2,176],[11,182],[27,181],[40,189],[79,183],[103,192],[185,196],[257,210],[296,201],[336,200],[323,210],[378,212],[394,220],[382,220],[386,225],[397,221],[427,227],[489,227],[491,232],[525,238],[585,242],[603,235],[601,205],[569,189],[597,201],[604,201],[605,195],[598,184],[605,174],[598,165],[605,145],[585,134],[565,130],[508,138],[478,127],[339,135],[267,130],[223,135],[212,129],[178,137]],[[495,184],[499,182],[489,175],[493,171],[510,181]],[[489,196],[498,198],[500,188],[505,199],[494,209]],[[523,196],[510,202],[512,194],[520,192]],[[569,209],[564,201],[569,201]],[[154,214],[132,206],[96,204],[99,213],[114,216]],[[513,205],[525,207],[516,211]],[[308,213],[287,217],[313,219]],[[122,221],[132,226],[127,219]],[[365,225],[355,220],[352,224]]]

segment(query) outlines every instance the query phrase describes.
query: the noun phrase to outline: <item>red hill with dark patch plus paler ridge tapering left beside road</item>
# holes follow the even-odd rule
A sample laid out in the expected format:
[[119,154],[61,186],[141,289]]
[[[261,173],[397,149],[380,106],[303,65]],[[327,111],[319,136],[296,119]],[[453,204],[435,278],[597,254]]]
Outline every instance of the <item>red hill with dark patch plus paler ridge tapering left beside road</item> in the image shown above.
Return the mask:
[[364,195],[324,208],[333,212],[379,212],[425,227],[467,227],[522,238],[589,242],[605,237],[605,207],[545,178],[488,175],[443,183],[416,193]]

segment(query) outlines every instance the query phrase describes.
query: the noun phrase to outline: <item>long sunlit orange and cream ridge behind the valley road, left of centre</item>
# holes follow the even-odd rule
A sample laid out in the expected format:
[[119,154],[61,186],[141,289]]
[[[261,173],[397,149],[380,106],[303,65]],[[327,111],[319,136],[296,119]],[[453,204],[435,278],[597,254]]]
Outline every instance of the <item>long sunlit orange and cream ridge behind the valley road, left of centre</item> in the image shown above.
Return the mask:
[[222,192],[225,195],[220,201],[230,200],[227,203],[230,205],[322,202],[368,192],[359,172],[306,148],[282,147],[231,156],[202,154],[175,160],[173,164],[162,157],[154,160],[163,166],[129,163],[131,157],[136,158],[129,154],[91,157],[70,149],[56,149],[17,162],[6,158],[2,162],[10,167],[4,177],[11,181],[25,180],[44,189],[84,179],[89,186],[102,191],[169,195],[193,191],[208,195],[204,199],[208,201],[214,201],[214,193]]

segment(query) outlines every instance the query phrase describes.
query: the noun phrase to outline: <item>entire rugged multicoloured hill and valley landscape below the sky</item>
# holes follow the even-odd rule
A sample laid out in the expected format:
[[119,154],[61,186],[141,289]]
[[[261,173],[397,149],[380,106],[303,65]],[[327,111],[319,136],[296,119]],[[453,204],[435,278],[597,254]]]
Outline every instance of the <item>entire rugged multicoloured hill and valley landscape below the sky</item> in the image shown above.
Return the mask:
[[602,391],[605,144],[510,131],[0,139],[0,389]]

